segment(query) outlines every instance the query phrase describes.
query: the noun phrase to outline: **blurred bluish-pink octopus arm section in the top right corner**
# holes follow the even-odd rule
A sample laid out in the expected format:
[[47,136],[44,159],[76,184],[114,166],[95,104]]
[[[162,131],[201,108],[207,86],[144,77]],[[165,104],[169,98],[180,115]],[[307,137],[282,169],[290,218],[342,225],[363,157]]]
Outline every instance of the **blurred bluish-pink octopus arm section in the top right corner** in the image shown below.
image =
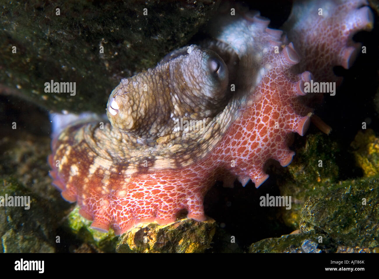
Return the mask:
[[[290,17],[283,25],[289,41],[294,43],[301,61],[297,71],[311,71],[316,80],[341,83],[342,78],[333,73],[334,66],[351,67],[361,50],[352,36],[361,30],[373,28],[373,13],[366,0],[311,1],[310,11],[302,8],[305,1],[296,2]],[[322,8],[322,15],[318,9]],[[323,32],[309,32],[310,28]],[[322,59],[318,57],[322,56]]]

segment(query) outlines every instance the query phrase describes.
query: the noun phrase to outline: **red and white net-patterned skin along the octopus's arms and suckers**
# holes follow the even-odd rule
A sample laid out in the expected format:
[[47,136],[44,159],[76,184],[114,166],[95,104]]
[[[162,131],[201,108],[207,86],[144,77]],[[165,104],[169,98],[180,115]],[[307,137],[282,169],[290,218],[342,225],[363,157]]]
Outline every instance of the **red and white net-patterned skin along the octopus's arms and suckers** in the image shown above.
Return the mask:
[[[321,81],[329,81],[331,66],[350,66],[355,52],[351,51],[352,34],[372,27],[369,8],[359,8],[365,1],[340,2],[329,5],[333,14],[328,17],[325,9],[324,16],[317,17],[316,24],[302,18],[307,19],[306,15],[317,13],[319,7],[333,1],[296,3],[294,10],[299,17],[291,17],[291,22],[285,24],[286,28],[294,26],[295,31],[290,33],[293,44],[288,44],[279,30],[268,29],[268,20],[256,13],[246,13],[244,18],[222,19],[215,37],[230,44],[238,54],[242,68],[240,76],[246,80],[247,91],[236,120],[216,146],[204,159],[186,167],[135,173],[130,178],[113,172],[104,194],[101,176],[92,175],[85,183],[85,177],[77,175],[68,182],[68,173],[58,172],[53,164],[58,146],[53,142],[53,154],[49,158],[51,175],[64,199],[77,201],[80,214],[93,220],[93,228],[106,231],[111,227],[116,234],[121,234],[141,222],[173,222],[183,209],[188,211],[188,218],[205,220],[203,199],[216,180],[229,185],[238,178],[245,185],[251,179],[256,187],[260,186],[268,178],[262,169],[265,162],[273,158],[282,166],[290,164],[294,152],[287,147],[288,138],[292,132],[303,135],[309,126],[312,109],[304,106],[298,96],[305,95],[304,82],[312,79],[310,72],[316,73]],[[254,33],[249,34],[250,31]],[[287,46],[283,47],[285,44]],[[255,62],[259,68],[252,65],[258,53],[254,53],[254,48],[258,46],[263,54]],[[298,47],[300,55],[295,51]],[[304,58],[301,71],[310,72],[294,74],[291,67],[300,58]],[[322,80],[326,72],[327,80]],[[86,154],[70,156],[85,158]],[[83,159],[78,173],[86,172],[88,166]]]

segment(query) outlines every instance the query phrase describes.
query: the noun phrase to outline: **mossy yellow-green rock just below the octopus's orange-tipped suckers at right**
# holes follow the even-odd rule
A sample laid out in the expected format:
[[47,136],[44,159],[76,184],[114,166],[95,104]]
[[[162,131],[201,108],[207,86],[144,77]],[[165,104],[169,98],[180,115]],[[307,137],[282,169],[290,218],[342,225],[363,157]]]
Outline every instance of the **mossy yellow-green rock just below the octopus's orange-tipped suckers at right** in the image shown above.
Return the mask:
[[298,148],[293,162],[277,179],[280,194],[292,199],[291,209],[283,210],[282,218],[293,230],[299,228],[302,205],[307,197],[323,192],[329,184],[338,181],[336,158],[340,152],[338,144],[321,132],[297,137],[296,142]]

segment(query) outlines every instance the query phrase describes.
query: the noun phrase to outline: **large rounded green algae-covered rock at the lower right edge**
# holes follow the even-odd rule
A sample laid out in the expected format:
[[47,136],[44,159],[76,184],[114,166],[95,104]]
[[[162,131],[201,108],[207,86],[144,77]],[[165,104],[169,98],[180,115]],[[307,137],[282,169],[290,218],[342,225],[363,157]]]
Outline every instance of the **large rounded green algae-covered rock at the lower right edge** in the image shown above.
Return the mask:
[[349,247],[379,246],[379,177],[332,184],[305,202],[304,232],[324,232]]

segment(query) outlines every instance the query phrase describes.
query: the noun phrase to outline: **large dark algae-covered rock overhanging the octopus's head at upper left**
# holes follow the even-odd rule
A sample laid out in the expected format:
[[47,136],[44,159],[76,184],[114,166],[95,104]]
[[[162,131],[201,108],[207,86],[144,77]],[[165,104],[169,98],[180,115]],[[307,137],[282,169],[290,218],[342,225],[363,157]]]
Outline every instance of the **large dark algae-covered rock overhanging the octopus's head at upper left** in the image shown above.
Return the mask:
[[[9,1],[0,10],[0,92],[48,109],[103,113],[122,77],[153,67],[218,1]],[[45,83],[75,82],[75,94]],[[51,88],[53,89],[53,88]]]

